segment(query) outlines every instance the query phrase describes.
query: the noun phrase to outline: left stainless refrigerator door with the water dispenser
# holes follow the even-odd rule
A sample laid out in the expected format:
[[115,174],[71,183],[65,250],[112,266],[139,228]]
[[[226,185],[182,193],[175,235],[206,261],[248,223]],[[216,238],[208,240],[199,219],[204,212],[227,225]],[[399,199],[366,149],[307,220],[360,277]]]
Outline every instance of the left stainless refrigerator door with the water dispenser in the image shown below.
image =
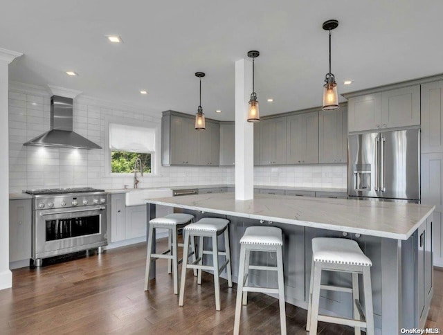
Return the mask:
[[379,197],[377,192],[378,133],[349,136],[347,191],[355,197]]

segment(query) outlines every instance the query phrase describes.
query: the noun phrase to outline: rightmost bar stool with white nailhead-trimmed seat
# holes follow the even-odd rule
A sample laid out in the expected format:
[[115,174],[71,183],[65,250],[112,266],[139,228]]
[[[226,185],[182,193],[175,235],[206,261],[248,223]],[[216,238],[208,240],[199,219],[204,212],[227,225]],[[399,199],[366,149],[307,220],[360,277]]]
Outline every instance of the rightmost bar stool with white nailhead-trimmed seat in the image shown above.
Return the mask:
[[[374,334],[374,314],[372,310],[371,260],[361,251],[359,244],[352,239],[316,237],[312,239],[311,285],[309,287],[309,305],[307,310],[306,330],[317,334],[318,321],[353,326],[355,334],[361,334],[360,328],[366,327],[366,334]],[[352,273],[352,288],[322,285],[321,271],[339,271]],[[360,305],[359,274],[363,274],[363,292],[365,311]],[[354,318],[338,318],[318,314],[320,289],[352,293]],[[359,318],[357,318],[359,314]]]

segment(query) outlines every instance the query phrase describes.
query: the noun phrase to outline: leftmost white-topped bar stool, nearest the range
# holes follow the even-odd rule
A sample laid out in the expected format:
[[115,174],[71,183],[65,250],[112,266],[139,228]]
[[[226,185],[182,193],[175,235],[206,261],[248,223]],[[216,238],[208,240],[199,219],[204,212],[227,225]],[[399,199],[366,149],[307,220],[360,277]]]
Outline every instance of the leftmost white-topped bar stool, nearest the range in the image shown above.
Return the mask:
[[[159,258],[168,259],[168,273],[172,272],[172,278],[174,280],[174,294],[179,293],[179,260],[177,253],[177,246],[183,246],[181,243],[177,243],[178,230],[183,229],[186,224],[190,224],[194,221],[194,215],[173,213],[166,215],[165,217],[156,217],[149,222],[149,237],[147,241],[147,255],[146,255],[146,273],[145,273],[145,291],[149,289],[150,285],[150,267],[151,262],[155,262]],[[163,253],[152,253],[152,243],[155,237],[156,228],[168,229],[168,250]],[[186,255],[186,254],[184,254]],[[195,260],[195,249],[192,246],[192,257]],[[185,257],[186,258],[186,257]],[[172,264],[171,264],[172,263]],[[197,273],[195,273],[197,275]]]

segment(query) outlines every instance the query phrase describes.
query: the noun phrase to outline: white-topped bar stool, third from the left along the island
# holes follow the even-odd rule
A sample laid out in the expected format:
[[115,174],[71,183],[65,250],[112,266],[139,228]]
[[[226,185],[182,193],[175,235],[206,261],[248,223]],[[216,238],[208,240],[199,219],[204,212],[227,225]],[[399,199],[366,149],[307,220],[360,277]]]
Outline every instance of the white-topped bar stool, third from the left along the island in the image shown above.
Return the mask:
[[[240,239],[240,264],[238,270],[237,300],[235,302],[234,334],[239,334],[240,314],[242,303],[248,302],[248,292],[278,293],[280,305],[280,331],[286,334],[286,311],[284,308],[284,278],[283,278],[283,255],[282,255],[282,230],[277,227],[253,226],[246,228]],[[277,266],[250,265],[251,251],[264,253],[274,252],[277,258]],[[269,287],[248,286],[249,270],[277,271],[278,289]]]

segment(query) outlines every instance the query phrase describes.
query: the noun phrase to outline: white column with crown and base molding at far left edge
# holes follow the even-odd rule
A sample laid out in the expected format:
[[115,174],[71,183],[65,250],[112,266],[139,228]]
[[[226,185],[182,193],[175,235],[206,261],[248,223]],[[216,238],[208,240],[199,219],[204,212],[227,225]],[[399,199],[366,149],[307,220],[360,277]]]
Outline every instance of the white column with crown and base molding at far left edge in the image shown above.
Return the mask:
[[21,53],[0,48],[0,289],[12,287],[9,270],[8,65]]

